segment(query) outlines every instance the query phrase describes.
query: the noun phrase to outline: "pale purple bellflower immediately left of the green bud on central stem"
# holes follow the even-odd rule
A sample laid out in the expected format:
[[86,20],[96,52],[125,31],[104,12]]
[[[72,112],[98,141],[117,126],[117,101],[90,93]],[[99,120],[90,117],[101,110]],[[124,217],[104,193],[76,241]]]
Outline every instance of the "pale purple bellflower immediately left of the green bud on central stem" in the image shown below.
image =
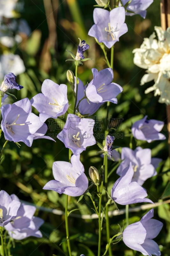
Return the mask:
[[31,99],[31,104],[39,111],[42,123],[50,117],[57,118],[65,114],[69,107],[66,84],[59,85],[46,79],[41,92]]

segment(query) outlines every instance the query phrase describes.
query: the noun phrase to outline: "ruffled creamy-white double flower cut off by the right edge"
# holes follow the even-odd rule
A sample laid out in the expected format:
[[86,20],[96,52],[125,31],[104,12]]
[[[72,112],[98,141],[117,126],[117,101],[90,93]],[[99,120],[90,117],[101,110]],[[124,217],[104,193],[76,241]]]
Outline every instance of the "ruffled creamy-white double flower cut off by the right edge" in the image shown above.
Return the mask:
[[166,31],[155,26],[156,35],[144,38],[140,48],[133,50],[134,63],[147,69],[141,85],[154,80],[155,84],[145,90],[145,93],[154,91],[154,96],[159,95],[159,102],[170,104],[170,28]]

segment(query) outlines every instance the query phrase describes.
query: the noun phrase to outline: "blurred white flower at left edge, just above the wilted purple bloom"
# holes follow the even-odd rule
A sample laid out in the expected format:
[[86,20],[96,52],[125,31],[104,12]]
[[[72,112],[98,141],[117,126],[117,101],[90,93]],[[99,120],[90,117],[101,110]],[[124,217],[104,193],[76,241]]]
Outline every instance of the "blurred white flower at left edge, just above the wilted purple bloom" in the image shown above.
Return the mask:
[[0,55],[0,79],[4,79],[4,75],[10,72],[17,76],[25,70],[24,62],[19,55],[12,53]]

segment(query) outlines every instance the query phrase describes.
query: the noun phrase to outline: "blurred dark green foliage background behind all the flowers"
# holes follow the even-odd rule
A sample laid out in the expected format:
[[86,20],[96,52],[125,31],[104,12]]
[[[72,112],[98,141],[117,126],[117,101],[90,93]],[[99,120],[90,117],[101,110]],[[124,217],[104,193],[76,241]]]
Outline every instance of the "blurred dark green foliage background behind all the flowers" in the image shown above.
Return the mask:
[[[1,1],[0,1],[1,2]],[[8,1],[7,1],[8,2]],[[70,107],[68,112],[72,113],[73,95],[67,82],[66,72],[68,69],[75,72],[74,63],[66,61],[70,55],[66,50],[76,55],[79,39],[85,40],[90,49],[85,52],[85,57],[91,58],[78,67],[78,77],[84,84],[92,80],[92,68],[98,71],[107,68],[103,52],[94,38],[88,36],[88,31],[93,25],[93,10],[96,2],[94,0],[18,0],[13,17],[9,17],[7,8],[1,17],[0,30],[0,79],[4,75],[13,72],[17,75],[17,82],[24,86],[21,91],[16,92],[17,100],[28,97],[31,99],[35,94],[41,92],[44,79],[51,79],[57,84],[68,85],[68,99]],[[10,5],[10,3],[9,3]],[[113,5],[113,1],[110,1]],[[149,119],[157,119],[165,122],[162,132],[167,136],[166,128],[166,105],[158,103],[159,97],[154,97],[153,92],[144,94],[146,88],[153,81],[140,86],[140,80],[145,70],[134,65],[133,49],[139,48],[144,37],[149,37],[154,26],[160,26],[160,1],[154,0],[147,9],[146,18],[139,15],[126,16],[128,32],[120,37],[115,43],[114,49],[114,82],[123,87],[123,92],[118,95],[118,104],[111,104],[109,116],[112,117],[111,133],[115,135],[115,145],[129,147],[130,128],[132,124],[145,115]],[[6,39],[5,39],[6,37]],[[110,51],[107,49],[109,58]],[[14,102],[10,99],[10,102]],[[33,112],[38,112],[33,108]],[[106,105],[91,116],[96,123],[94,136],[100,143],[103,142],[104,118],[106,116]],[[21,143],[18,148],[15,143],[8,143],[4,150],[4,157],[0,165],[0,189],[9,194],[16,194],[19,199],[37,206],[36,215],[43,218],[45,223],[41,227],[43,238],[33,237],[16,242],[11,250],[12,255],[67,255],[65,239],[64,215],[51,213],[49,209],[64,211],[65,195],[59,195],[54,191],[42,190],[43,186],[53,179],[52,164],[54,161],[68,161],[68,149],[56,138],[63,129],[66,118],[48,119],[48,132],[46,135],[56,139],[56,143],[50,140],[35,140],[31,148]],[[121,121],[120,121],[121,120]],[[144,183],[148,197],[157,202],[162,200],[162,194],[168,191],[169,186],[169,159],[167,141],[138,142],[132,140],[133,149],[136,146],[151,148],[152,156],[162,158],[157,169],[158,175]],[[2,138],[1,145],[4,144]],[[103,158],[97,155],[97,145],[87,148],[81,154],[80,160],[85,166],[85,174],[88,176],[89,167],[95,166],[100,170]],[[109,161],[109,170],[114,170],[117,163]],[[115,172],[109,177],[109,189],[118,178]],[[92,187],[95,193],[94,186]],[[169,193],[170,194],[170,193]],[[166,197],[169,197],[168,192]],[[165,195],[165,193],[164,193]],[[92,204],[88,196],[84,196],[77,204],[78,198],[70,198],[69,209],[78,209],[75,214],[70,215],[70,240],[73,249],[72,255],[95,256],[98,245],[98,221],[82,220],[81,214],[92,214]],[[132,205],[133,207],[133,205]],[[123,208],[120,206],[120,209]],[[114,210],[111,205],[109,210]],[[129,222],[139,221],[147,211],[132,212],[129,214]],[[164,227],[155,241],[161,246],[162,255],[170,255],[170,210],[169,205],[160,206],[154,210],[154,218],[162,221]],[[110,218],[111,236],[119,232],[123,226],[125,215]],[[125,221],[124,221],[125,224]],[[105,223],[102,231],[101,252],[105,251],[106,236]],[[115,256],[134,256],[136,254],[127,248],[123,242],[113,245]]]

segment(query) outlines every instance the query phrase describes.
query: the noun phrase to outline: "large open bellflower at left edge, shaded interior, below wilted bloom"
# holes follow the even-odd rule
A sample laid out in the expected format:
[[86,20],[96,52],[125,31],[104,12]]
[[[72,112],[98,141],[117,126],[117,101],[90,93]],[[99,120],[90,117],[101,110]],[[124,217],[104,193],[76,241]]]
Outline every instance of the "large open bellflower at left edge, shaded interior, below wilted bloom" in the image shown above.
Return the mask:
[[34,133],[43,125],[40,118],[31,113],[28,98],[1,107],[1,128],[6,140],[23,141],[28,147],[33,143]]

